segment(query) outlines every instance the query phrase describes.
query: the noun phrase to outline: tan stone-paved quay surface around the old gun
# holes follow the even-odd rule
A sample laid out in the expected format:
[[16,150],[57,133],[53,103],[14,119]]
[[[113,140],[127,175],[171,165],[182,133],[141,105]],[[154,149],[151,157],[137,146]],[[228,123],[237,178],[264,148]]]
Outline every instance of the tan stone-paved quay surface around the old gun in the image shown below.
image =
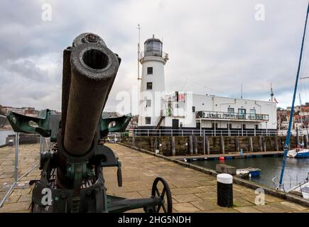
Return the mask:
[[[234,206],[217,206],[216,178],[205,173],[147,155],[119,144],[106,144],[122,162],[123,187],[116,182],[116,167],[104,168],[108,194],[126,198],[142,198],[151,195],[153,180],[160,176],[170,185],[174,212],[308,212],[309,208],[274,196],[265,195],[265,205],[254,204],[254,190],[234,184]],[[21,145],[20,175],[38,161],[39,145]],[[6,182],[13,182],[13,148],[0,148],[0,197],[7,191]],[[21,182],[39,179],[38,168]],[[32,187],[13,189],[0,212],[29,212]],[[143,212],[137,209],[134,212]]]

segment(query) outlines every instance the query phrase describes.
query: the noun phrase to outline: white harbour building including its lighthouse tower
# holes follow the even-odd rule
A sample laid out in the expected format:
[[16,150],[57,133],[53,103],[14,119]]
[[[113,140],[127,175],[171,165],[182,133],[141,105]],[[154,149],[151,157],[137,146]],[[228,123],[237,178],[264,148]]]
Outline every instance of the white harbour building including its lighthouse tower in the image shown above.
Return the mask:
[[168,62],[168,54],[163,52],[162,46],[158,38],[149,38],[139,58],[142,65],[138,122],[140,132],[175,135],[276,133],[275,101],[166,92],[164,65]]

